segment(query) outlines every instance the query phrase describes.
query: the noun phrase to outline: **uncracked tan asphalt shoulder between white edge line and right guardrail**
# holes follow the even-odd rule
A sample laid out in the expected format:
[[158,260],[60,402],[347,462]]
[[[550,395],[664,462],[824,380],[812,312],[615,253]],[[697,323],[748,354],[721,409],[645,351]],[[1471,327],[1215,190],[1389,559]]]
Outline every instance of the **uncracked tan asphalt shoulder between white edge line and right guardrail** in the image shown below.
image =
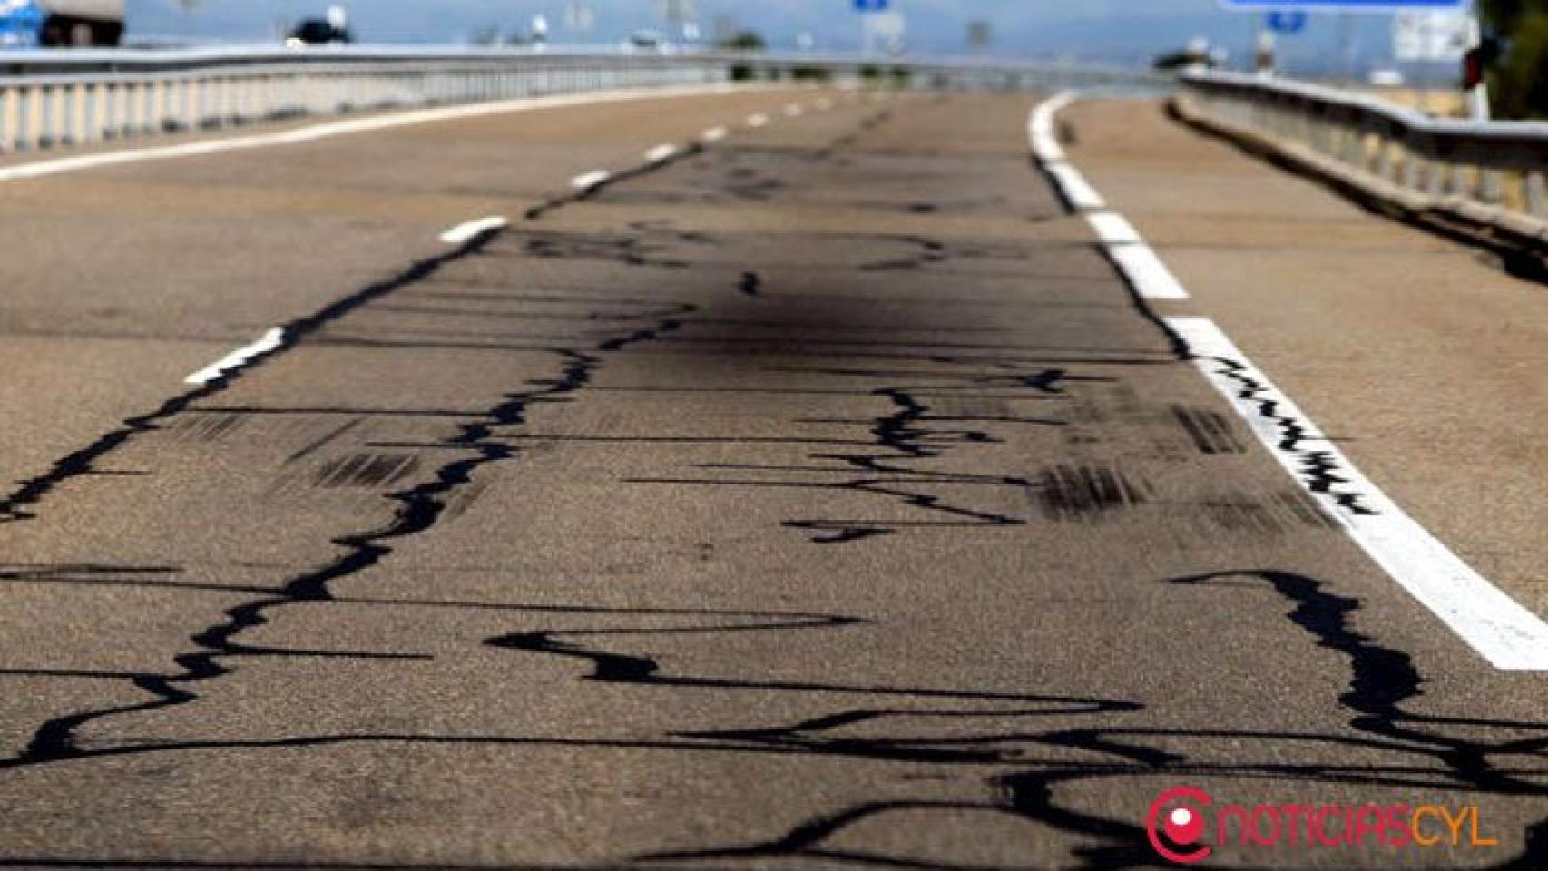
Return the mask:
[[1167,119],[1063,113],[1070,159],[1392,498],[1548,613],[1548,292]]

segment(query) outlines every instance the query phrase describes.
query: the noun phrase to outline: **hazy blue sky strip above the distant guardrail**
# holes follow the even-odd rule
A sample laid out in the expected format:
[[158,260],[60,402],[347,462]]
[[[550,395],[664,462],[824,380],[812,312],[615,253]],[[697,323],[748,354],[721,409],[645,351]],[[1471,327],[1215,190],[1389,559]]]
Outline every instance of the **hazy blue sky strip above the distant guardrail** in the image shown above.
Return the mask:
[[[130,32],[269,40],[277,22],[319,15],[330,0],[128,0]],[[365,42],[458,43],[497,26],[526,31],[533,15],[553,25],[554,42],[616,43],[641,28],[663,28],[663,0],[584,0],[596,14],[590,34],[565,26],[571,0],[344,0],[356,34]],[[706,29],[717,17],[765,34],[776,48],[794,48],[811,34],[817,48],[853,50],[859,15],[853,0],[697,0]],[[989,53],[1022,57],[1077,57],[1141,63],[1190,37],[1209,37],[1237,62],[1248,56],[1262,15],[1223,11],[1218,0],[892,0],[907,17],[912,53],[963,54],[972,20],[994,26]],[[1365,63],[1379,62],[1390,45],[1390,17],[1379,14],[1313,15],[1307,32],[1280,42],[1291,67],[1337,63],[1341,46]]]

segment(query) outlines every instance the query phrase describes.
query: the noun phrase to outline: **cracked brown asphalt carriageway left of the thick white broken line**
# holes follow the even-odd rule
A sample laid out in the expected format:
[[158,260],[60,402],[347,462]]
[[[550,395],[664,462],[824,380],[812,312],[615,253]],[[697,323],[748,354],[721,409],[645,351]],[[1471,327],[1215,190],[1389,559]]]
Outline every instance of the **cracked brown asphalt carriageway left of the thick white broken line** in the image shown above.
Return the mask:
[[[201,336],[17,473],[0,866],[1139,868],[1189,784],[1477,804],[1500,842],[1211,866],[1543,868],[1542,678],[1234,421],[1029,167],[1031,97],[799,99],[683,101],[734,133],[526,218],[568,173],[522,155],[594,169],[560,152],[616,108],[36,183],[220,181],[224,268],[271,292],[204,303],[293,339],[178,385],[231,348]],[[337,166],[362,215],[512,226],[223,223],[337,215]],[[265,192],[297,178],[327,190]],[[135,257],[142,333],[197,330],[176,251]]]

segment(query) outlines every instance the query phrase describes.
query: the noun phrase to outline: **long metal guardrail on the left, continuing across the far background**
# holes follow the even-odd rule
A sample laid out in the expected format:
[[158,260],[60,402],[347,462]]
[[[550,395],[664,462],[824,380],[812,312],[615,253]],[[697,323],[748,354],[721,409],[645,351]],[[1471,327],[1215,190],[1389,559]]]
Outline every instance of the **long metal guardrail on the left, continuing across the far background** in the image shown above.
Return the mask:
[[0,150],[90,144],[307,114],[715,84],[1161,87],[1124,70],[769,53],[341,46],[0,51]]

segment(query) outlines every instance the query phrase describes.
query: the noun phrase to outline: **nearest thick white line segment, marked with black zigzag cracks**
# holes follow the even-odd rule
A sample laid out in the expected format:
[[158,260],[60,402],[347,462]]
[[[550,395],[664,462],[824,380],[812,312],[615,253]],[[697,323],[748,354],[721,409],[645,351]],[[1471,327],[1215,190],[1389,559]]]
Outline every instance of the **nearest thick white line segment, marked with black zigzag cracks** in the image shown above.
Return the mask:
[[[1478,654],[1503,671],[1548,670],[1548,623],[1468,566],[1446,545],[1396,506],[1333,446],[1288,396],[1206,317],[1169,317],[1204,377],[1248,421],[1259,441],[1322,509],[1413,599],[1429,608]],[[1302,430],[1314,452],[1285,447],[1285,421]],[[1316,456],[1308,456],[1314,453]],[[1341,480],[1334,492],[1307,486],[1308,459],[1331,463]],[[1354,511],[1341,497],[1358,494]]]

